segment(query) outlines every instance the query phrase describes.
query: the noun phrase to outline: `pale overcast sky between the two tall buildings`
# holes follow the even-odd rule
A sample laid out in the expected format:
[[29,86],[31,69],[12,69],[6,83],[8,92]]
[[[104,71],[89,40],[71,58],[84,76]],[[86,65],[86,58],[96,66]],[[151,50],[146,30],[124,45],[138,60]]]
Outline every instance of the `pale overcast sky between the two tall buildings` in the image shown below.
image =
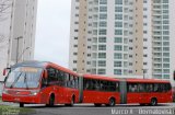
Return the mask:
[[35,59],[68,67],[71,0],[38,0]]

